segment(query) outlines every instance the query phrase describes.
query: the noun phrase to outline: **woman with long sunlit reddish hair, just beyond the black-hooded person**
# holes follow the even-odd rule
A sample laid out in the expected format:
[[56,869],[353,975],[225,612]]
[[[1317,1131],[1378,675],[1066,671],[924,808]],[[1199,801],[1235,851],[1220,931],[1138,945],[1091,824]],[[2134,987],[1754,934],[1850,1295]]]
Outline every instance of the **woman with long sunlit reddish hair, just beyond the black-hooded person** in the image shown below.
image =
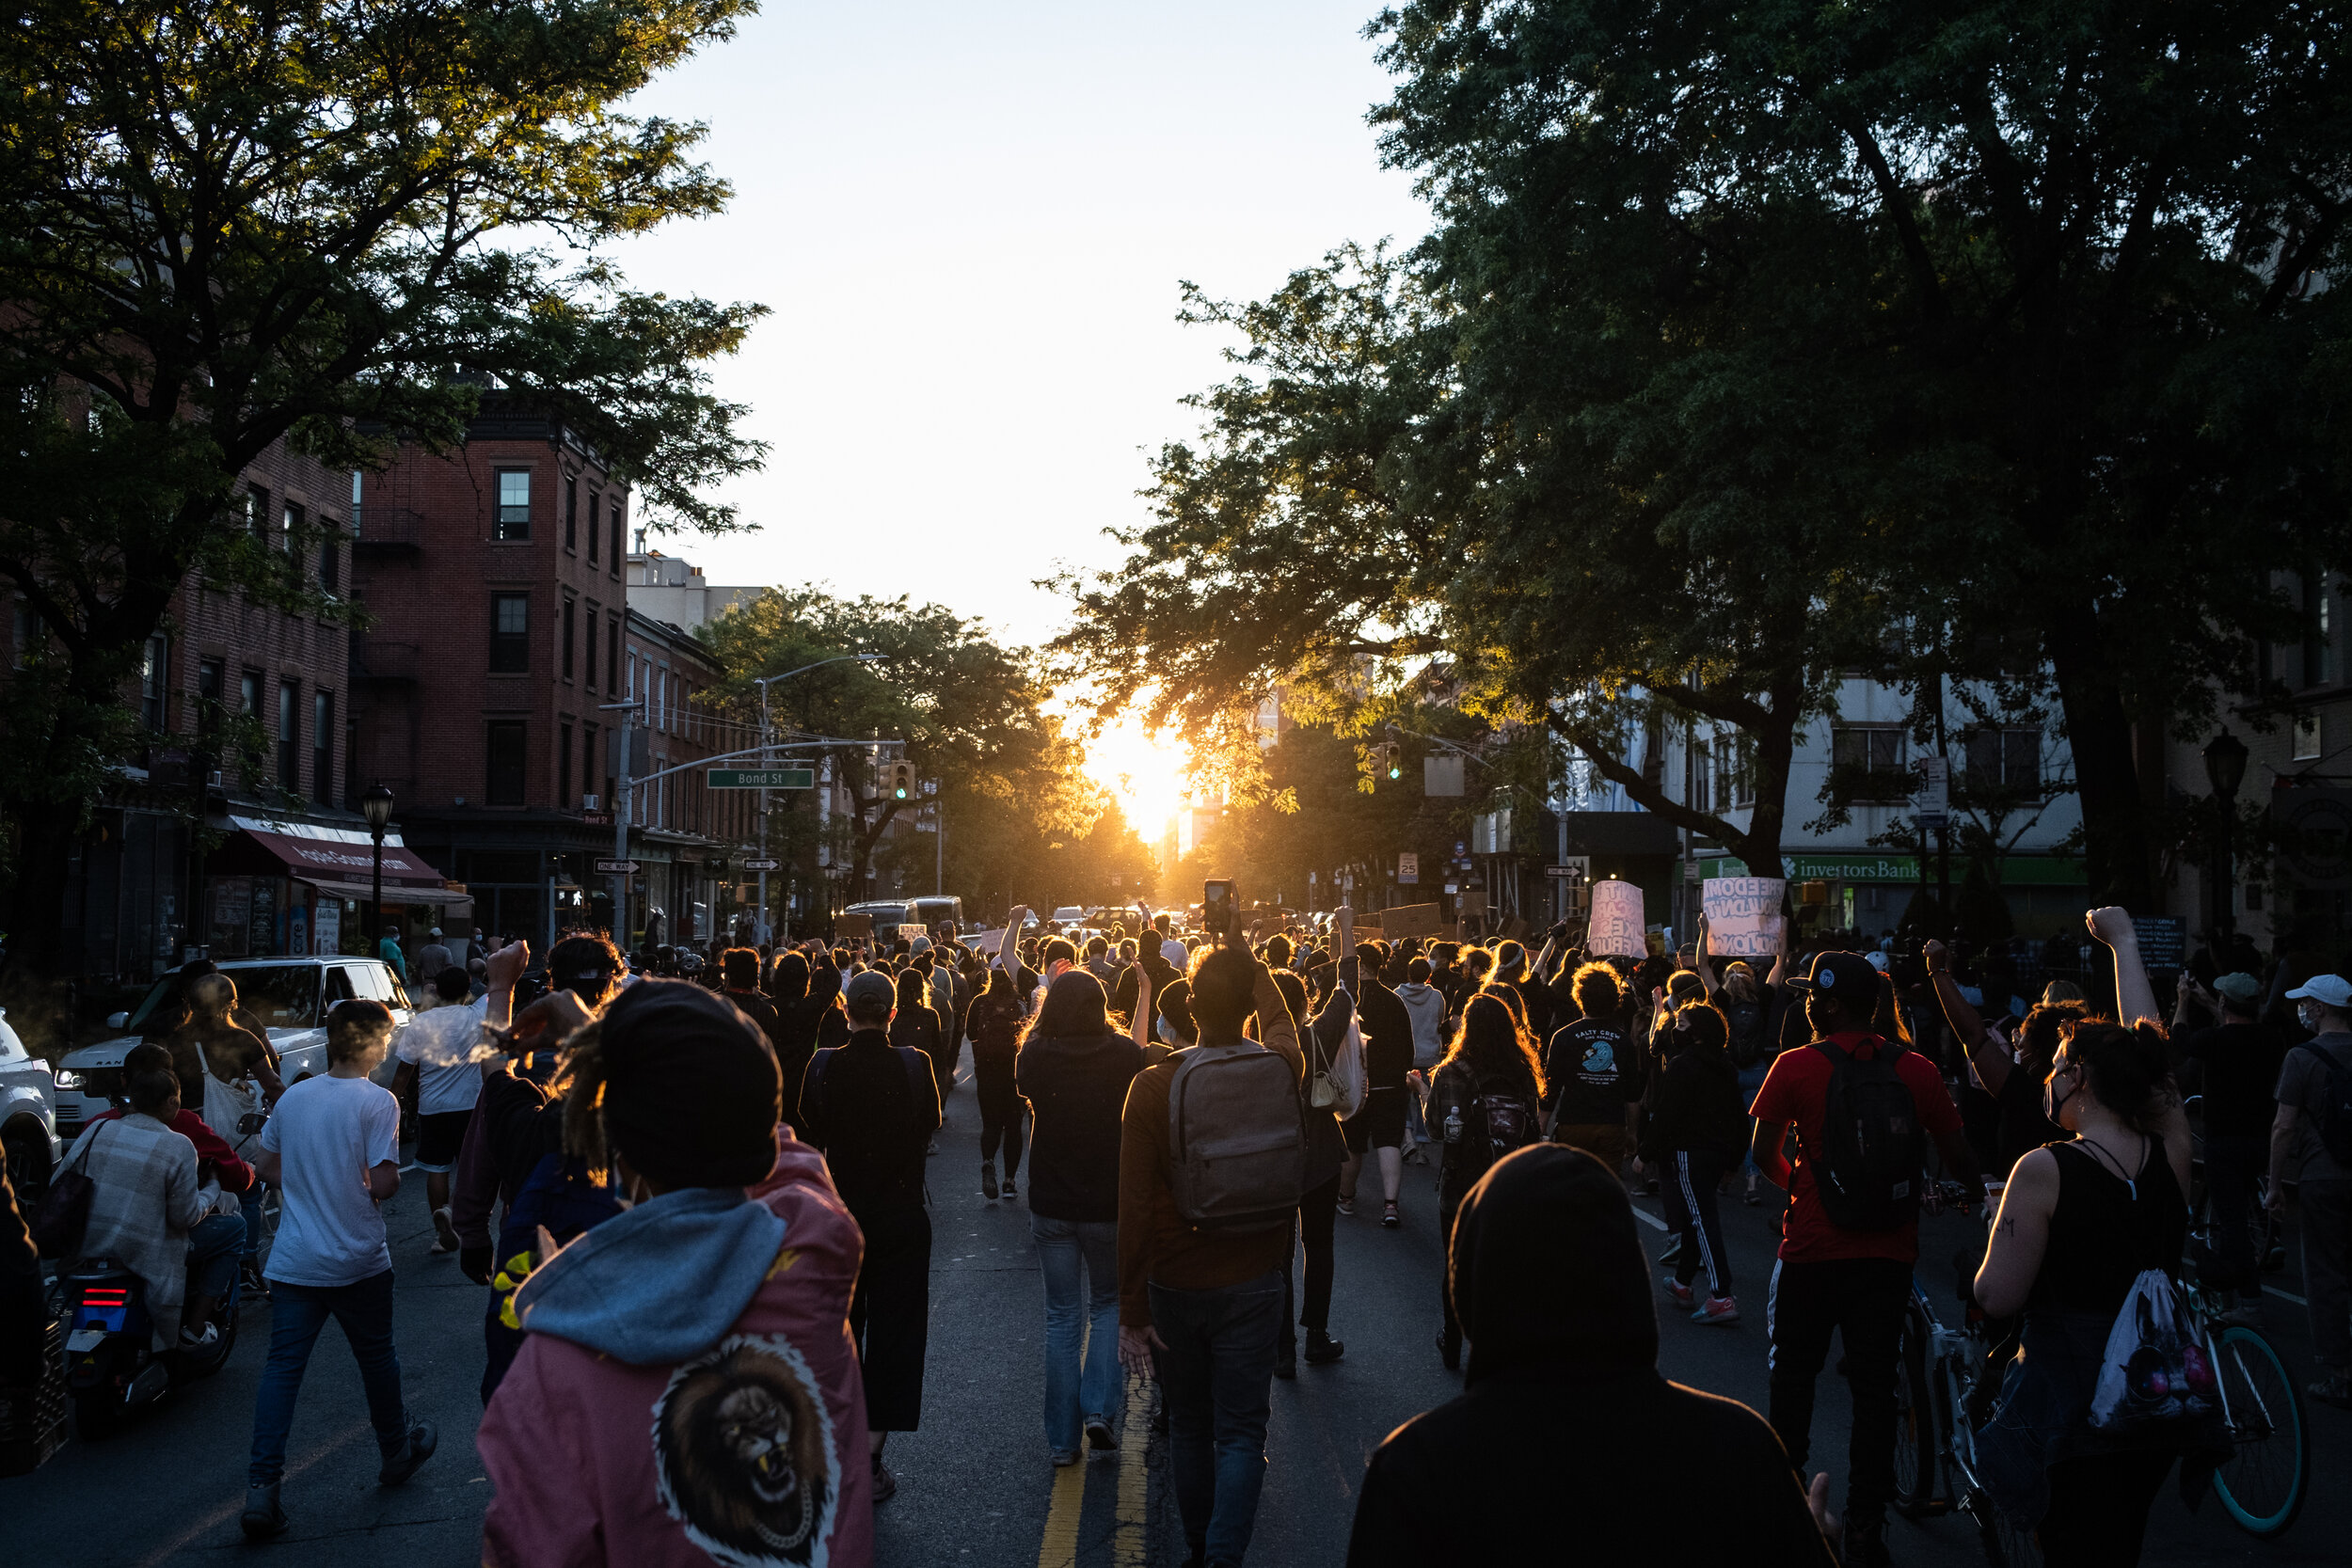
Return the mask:
[[[1423,1114],[1439,1138],[1437,1234],[1451,1237],[1463,1201],[1494,1161],[1543,1135],[1543,1063],[1510,1004],[1501,997],[1463,1004],[1454,1044],[1430,1074],[1425,1098]],[[1444,1274],[1437,1307],[1437,1356],[1451,1373],[1461,1368],[1463,1328]]]

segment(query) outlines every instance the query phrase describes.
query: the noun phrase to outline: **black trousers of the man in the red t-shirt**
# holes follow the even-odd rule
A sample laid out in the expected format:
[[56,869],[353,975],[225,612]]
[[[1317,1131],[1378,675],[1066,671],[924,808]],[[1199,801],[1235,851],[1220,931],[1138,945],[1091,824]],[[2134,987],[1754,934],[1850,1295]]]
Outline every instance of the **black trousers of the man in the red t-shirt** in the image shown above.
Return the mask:
[[1813,1436],[1813,1380],[1830,1335],[1846,1347],[1853,1429],[1846,1446],[1846,1521],[1886,1516],[1896,1490],[1896,1354],[1912,1265],[1893,1258],[1776,1262],[1766,1321],[1771,1333],[1771,1429],[1804,1474]]

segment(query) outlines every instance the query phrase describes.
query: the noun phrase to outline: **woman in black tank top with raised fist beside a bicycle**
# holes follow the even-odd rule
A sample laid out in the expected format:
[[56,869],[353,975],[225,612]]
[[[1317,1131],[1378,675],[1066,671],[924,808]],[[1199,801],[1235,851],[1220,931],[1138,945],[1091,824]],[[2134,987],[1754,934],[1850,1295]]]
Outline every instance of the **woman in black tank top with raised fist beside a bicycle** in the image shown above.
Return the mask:
[[[2173,1460],[2227,1458],[2227,1434],[2194,1420],[2091,1427],[2114,1319],[2143,1272],[2178,1274],[2190,1222],[2190,1126],[2145,976],[2138,990],[2133,1027],[2091,1018],[2060,1034],[2044,1100],[2067,1138],[2009,1173],[1976,1272],[1985,1312],[2025,1316],[2023,1352],[1976,1446],[1994,1505],[2034,1528],[2049,1568],[2131,1568]],[[2133,1011],[2129,990],[2119,997]]]

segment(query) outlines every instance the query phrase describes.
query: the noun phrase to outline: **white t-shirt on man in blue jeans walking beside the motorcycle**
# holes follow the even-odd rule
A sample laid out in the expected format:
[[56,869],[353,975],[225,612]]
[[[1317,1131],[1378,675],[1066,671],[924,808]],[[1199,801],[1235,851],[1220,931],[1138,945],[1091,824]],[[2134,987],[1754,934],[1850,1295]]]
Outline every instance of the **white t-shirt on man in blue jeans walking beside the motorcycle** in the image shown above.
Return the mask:
[[278,1154],[285,1213],[270,1248],[270,1279],[289,1286],[350,1286],[393,1267],[383,1211],[367,1173],[400,1164],[400,1100],[367,1079],[303,1079],[287,1086],[261,1128]]

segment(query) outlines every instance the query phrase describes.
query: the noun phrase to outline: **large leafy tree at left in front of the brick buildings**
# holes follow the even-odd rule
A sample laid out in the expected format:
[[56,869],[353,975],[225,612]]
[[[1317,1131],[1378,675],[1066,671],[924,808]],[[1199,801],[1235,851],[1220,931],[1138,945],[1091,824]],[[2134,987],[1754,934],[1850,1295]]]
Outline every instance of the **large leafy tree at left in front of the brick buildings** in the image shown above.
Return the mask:
[[[228,510],[287,442],[447,449],[480,386],[581,430],[649,527],[757,465],[703,364],[757,306],[640,294],[593,247],[717,212],[699,125],[621,101],[748,0],[31,0],[0,54],[0,578],[54,658],[12,675],[9,931],[54,964],[66,865],[129,738],[122,684],[195,574],[348,616]],[[564,261],[562,249],[572,252]],[[454,374],[463,369],[466,374]],[[296,541],[301,543],[301,541]]]

